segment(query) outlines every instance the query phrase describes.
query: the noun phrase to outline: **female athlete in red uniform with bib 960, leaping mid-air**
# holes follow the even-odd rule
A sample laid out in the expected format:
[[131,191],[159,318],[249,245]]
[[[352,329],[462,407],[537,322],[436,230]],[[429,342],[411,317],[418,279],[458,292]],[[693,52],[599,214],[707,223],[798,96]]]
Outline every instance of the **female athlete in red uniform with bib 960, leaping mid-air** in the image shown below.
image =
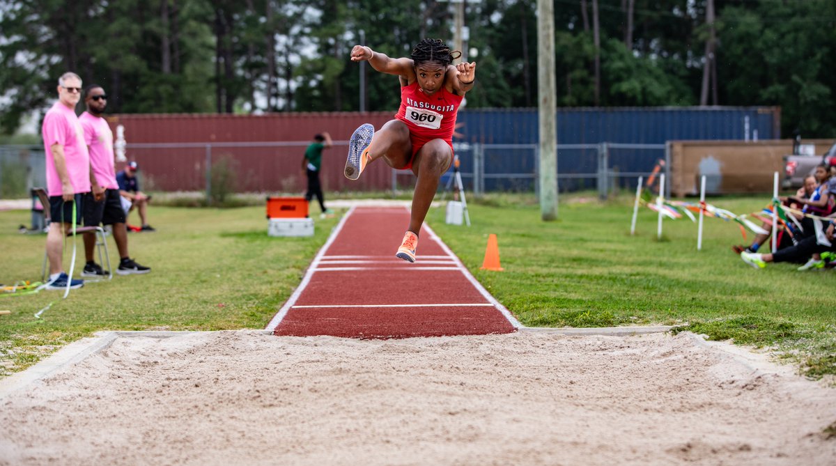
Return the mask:
[[366,165],[383,157],[398,170],[411,169],[417,180],[412,195],[410,225],[395,256],[415,262],[418,234],[436,195],[441,175],[453,161],[453,129],[465,93],[473,88],[476,63],[452,65],[460,52],[451,52],[439,39],[421,40],[410,58],[389,58],[355,45],[354,62],[368,61],[380,73],[400,78],[400,109],[377,132],[363,124],[349,141],[345,176],[357,180]]

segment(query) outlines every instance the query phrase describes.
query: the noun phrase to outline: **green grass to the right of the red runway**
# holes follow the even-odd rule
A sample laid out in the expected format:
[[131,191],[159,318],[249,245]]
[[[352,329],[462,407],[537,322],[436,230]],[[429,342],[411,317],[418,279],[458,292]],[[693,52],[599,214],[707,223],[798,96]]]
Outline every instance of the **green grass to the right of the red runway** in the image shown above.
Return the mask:
[[[709,203],[738,214],[762,198]],[[696,224],[665,220],[641,207],[630,236],[632,199],[600,203],[594,195],[561,198],[558,220],[540,220],[536,200],[499,196],[468,205],[472,227],[429,220],[477,279],[523,324],[532,327],[673,325],[714,340],[775,347],[810,377],[836,374],[836,272],[798,272],[793,264],[755,270],[731,247],[735,223],[706,218],[702,251]],[[505,271],[482,271],[487,235],[496,233]],[[747,232],[747,240],[752,233]]]

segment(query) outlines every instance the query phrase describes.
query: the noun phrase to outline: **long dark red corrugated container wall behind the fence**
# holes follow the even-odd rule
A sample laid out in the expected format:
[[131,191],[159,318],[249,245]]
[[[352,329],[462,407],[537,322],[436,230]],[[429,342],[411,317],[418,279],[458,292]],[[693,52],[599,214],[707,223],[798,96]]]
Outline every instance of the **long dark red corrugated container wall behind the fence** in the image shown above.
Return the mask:
[[[391,170],[382,160],[370,165],[358,181],[343,175],[348,139],[360,124],[380,129],[395,112],[298,114],[116,114],[111,129],[125,127],[128,160],[140,164],[144,190],[206,189],[206,147],[135,148],[131,144],[297,143],[283,147],[212,147],[212,163],[224,158],[234,166],[239,192],[302,193],[304,150],[314,134],[327,131],[334,147],[323,152],[324,190],[389,190]],[[121,167],[117,167],[119,170]]]

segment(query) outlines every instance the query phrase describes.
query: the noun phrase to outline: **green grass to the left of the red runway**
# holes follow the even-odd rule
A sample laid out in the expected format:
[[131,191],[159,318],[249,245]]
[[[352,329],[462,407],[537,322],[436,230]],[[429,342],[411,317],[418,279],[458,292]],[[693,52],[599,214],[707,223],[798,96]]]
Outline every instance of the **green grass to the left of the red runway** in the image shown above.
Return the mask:
[[[130,256],[144,276],[114,276],[70,291],[0,296],[0,375],[37,362],[55,345],[101,330],[263,328],[287,300],[339,219],[316,220],[312,238],[267,236],[264,208],[150,209],[154,233],[130,233]],[[0,212],[0,282],[39,280],[46,236],[21,235],[28,211]],[[118,263],[108,239],[111,265]],[[68,241],[67,246],[72,247]],[[64,266],[69,270],[69,252]],[[84,265],[79,240],[76,267]],[[33,314],[50,302],[43,313]]]

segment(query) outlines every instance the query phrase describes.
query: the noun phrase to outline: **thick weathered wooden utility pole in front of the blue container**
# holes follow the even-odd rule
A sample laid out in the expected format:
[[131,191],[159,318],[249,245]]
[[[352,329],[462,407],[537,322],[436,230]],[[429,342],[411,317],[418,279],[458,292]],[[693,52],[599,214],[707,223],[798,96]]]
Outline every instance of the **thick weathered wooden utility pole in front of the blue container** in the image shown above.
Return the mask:
[[537,0],[538,114],[540,119],[540,215],[558,218],[558,134],[554,94],[554,3]]

